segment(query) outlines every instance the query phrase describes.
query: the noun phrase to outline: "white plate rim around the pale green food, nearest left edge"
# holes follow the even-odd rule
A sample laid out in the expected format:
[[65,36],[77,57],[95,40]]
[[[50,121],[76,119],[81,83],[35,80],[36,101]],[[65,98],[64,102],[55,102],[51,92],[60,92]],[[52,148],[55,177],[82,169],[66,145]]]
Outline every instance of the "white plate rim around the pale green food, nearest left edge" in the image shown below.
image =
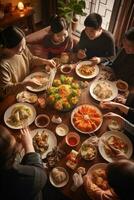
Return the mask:
[[30,125],[33,123],[35,117],[36,117],[36,110],[35,108],[29,104],[29,103],[16,103],[16,104],[13,104],[12,106],[10,106],[5,114],[4,114],[4,122],[5,124],[9,127],[9,128],[12,128],[12,129],[21,129],[22,128],[22,125],[18,125],[18,126],[14,126],[14,125],[11,125],[9,122],[8,122],[8,119],[10,118],[11,116],[11,113],[12,113],[12,110],[14,108],[17,108],[17,107],[20,107],[20,106],[24,106],[26,108],[28,108],[30,110],[30,116],[26,119],[26,124],[27,125]]

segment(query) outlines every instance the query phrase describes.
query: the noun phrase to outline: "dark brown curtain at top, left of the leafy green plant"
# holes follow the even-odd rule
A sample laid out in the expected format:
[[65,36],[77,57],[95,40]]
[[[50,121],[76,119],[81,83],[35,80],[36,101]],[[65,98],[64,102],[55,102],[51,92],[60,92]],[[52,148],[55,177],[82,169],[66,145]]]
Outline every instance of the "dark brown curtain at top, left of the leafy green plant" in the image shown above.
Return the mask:
[[57,13],[58,0],[42,0],[43,24],[48,25],[50,18]]

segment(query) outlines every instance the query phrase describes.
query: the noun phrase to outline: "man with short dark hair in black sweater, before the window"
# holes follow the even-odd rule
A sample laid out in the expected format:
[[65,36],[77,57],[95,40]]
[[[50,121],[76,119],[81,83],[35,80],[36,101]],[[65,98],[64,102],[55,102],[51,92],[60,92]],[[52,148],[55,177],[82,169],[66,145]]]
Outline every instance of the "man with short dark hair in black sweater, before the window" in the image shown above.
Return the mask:
[[77,57],[90,59],[98,64],[115,55],[115,43],[110,32],[102,29],[102,17],[97,13],[89,14],[85,21],[80,41],[77,44]]

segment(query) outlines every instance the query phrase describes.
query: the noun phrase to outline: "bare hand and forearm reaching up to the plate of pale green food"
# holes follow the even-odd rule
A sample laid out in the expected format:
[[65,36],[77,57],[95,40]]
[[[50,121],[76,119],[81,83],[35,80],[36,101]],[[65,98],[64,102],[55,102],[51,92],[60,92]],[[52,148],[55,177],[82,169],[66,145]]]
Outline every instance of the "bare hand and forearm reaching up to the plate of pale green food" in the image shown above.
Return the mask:
[[23,148],[25,149],[25,153],[35,152],[33,147],[32,137],[30,135],[28,128],[22,128],[20,132],[21,132],[21,143],[23,145]]

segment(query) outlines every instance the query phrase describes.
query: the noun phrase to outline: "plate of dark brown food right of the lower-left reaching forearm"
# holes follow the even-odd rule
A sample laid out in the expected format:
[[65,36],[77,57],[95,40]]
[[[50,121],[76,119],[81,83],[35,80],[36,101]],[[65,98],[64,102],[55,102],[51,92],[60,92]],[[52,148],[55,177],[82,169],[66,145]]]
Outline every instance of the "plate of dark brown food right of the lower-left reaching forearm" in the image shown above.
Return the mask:
[[56,136],[49,129],[34,129],[31,134],[35,151],[41,154],[42,159],[57,146]]

